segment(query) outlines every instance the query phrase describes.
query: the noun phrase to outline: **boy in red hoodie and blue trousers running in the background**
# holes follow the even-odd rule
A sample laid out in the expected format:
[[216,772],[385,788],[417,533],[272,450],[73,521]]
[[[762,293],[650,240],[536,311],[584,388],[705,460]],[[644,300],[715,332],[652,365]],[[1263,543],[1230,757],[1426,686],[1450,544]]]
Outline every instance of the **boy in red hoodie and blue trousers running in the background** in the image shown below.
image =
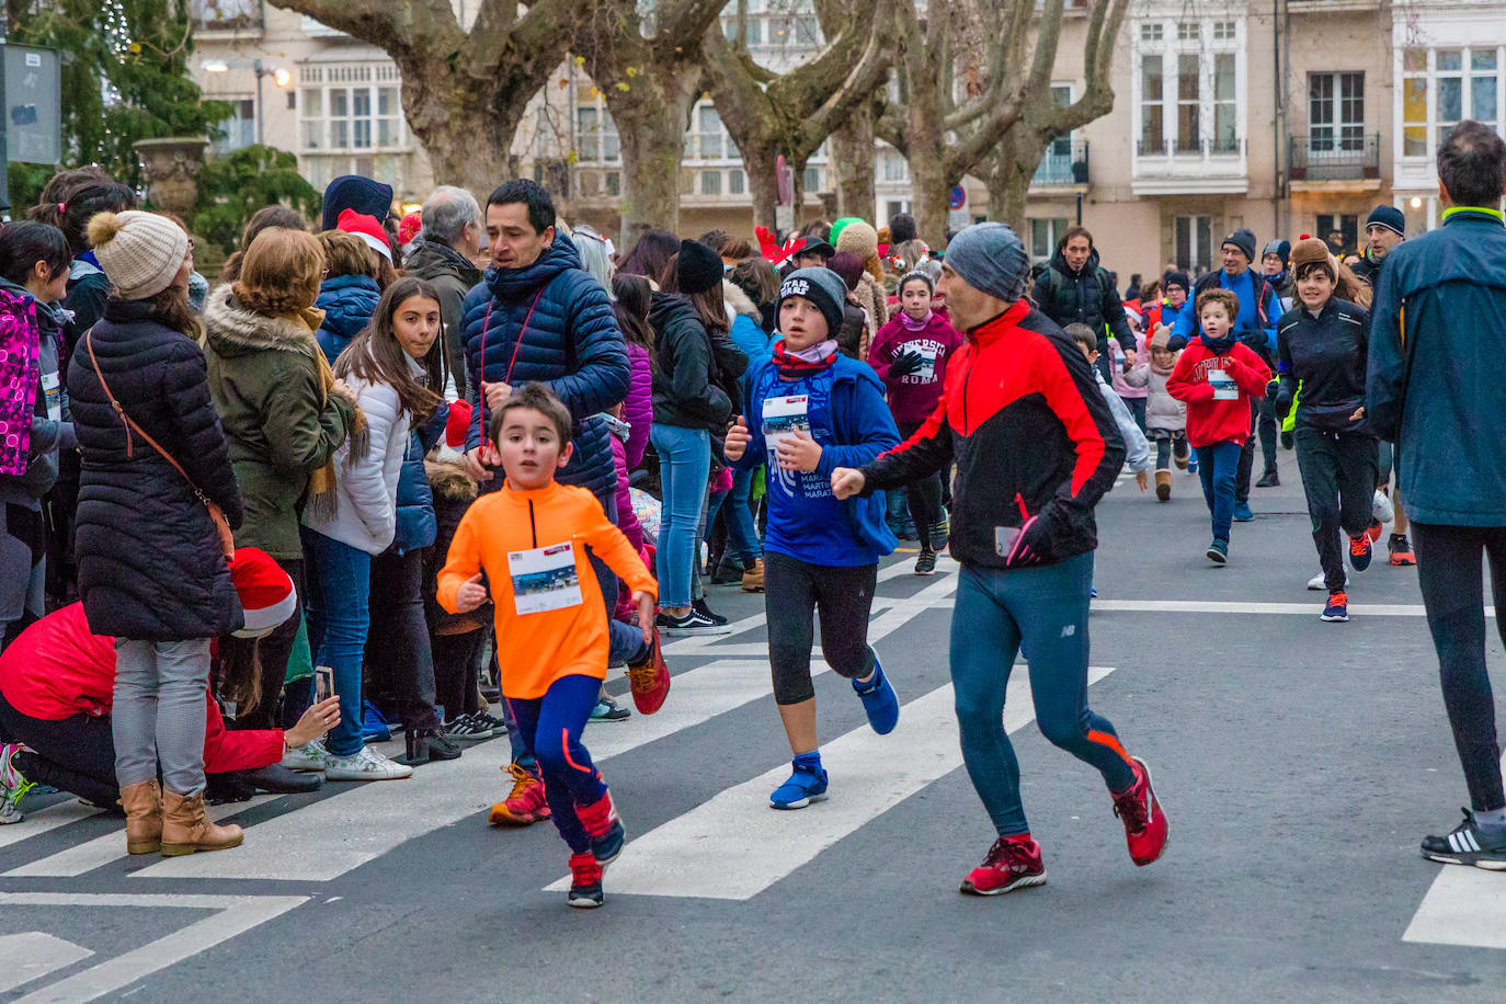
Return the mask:
[[1187,441],[1197,452],[1197,476],[1214,525],[1206,554],[1214,564],[1224,564],[1239,452],[1250,438],[1250,399],[1265,397],[1271,370],[1233,333],[1239,297],[1208,289],[1199,294],[1196,309],[1199,336],[1182,349],[1166,390],[1187,402]]

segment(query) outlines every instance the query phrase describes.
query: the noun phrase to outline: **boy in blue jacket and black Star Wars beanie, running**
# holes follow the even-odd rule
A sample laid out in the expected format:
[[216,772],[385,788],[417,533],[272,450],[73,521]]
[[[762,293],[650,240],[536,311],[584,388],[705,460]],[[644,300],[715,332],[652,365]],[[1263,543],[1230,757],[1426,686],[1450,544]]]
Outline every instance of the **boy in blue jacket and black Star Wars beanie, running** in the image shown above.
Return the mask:
[[899,446],[884,385],[864,363],[837,352],[846,284],[828,268],[801,268],[779,289],[773,357],[755,363],[726,458],[738,470],[768,458],[768,531],[764,537],[764,604],[774,700],[795,754],[774,808],[804,808],[827,796],[816,741],[816,691],[810,683],[812,613],[821,616],[821,653],[852,680],[873,732],[899,721],[899,698],[867,644],[878,560],[898,543],[884,521],[884,498],[839,500],[831,471],[860,467]]

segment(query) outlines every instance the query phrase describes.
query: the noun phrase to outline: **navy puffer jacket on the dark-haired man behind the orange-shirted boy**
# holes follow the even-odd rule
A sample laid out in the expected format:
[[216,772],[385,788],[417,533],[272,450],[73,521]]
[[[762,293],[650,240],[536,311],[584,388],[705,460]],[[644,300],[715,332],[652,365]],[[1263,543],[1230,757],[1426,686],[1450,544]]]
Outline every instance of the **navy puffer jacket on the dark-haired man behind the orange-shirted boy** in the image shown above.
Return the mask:
[[[565,402],[575,420],[571,437],[575,455],[560,471],[560,483],[586,488],[607,506],[605,500],[616,492],[617,476],[611,462],[611,432],[599,412],[626,397],[631,370],[607,291],[580,268],[575,245],[556,233],[554,242],[532,265],[486,269],[486,280],[467,294],[461,315],[468,397],[474,406],[465,449],[480,446],[482,431],[491,420],[480,405],[483,381],[512,387],[538,381]],[[491,486],[500,483],[498,471]]]

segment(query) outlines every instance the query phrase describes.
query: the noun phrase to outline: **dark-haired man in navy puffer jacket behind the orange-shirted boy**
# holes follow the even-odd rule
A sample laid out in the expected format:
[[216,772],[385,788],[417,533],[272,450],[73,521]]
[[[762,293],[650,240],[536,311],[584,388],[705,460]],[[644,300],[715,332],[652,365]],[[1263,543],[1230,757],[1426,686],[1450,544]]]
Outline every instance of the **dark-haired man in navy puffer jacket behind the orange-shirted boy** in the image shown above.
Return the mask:
[[610,516],[617,479],[599,412],[626,397],[630,369],[607,291],[554,230],[554,203],[536,182],[517,179],[491,193],[486,239],[492,265],[461,307],[470,402],[479,405],[465,434],[465,468],[482,491],[501,486],[500,471],[482,461],[488,394],[538,381],[575,420],[575,455],[560,483],[589,489]]

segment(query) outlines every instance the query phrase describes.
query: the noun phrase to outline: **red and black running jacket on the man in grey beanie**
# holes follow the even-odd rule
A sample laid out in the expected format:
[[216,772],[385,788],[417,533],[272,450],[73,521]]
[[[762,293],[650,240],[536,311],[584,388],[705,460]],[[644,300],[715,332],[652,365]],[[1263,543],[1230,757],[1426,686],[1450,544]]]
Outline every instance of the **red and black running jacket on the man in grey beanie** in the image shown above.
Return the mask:
[[907,485],[953,456],[952,557],[1003,569],[1021,566],[1005,546],[1021,528],[1029,564],[1098,546],[1093,506],[1125,447],[1083,351],[1020,301],[967,333],[937,409],[863,468],[863,491]]

